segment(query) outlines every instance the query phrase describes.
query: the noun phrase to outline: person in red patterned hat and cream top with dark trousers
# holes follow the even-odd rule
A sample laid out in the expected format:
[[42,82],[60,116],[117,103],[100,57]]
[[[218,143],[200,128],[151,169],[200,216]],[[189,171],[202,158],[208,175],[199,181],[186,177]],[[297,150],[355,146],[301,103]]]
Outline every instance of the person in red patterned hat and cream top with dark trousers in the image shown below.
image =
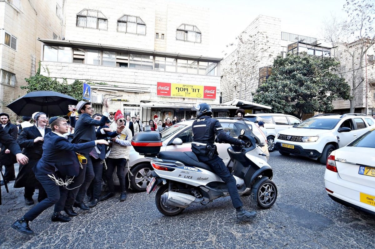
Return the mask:
[[[117,127],[124,126],[124,116],[122,115],[120,110],[118,110],[115,113],[115,122],[117,124]],[[132,145],[132,138],[132,132],[126,126],[121,131],[120,135],[111,138],[111,152],[105,160],[105,162],[107,163],[107,170],[105,171],[105,176],[107,178],[107,185],[109,191],[105,196],[101,198],[101,200],[107,200],[115,196],[115,188],[112,176],[115,168],[121,188],[120,202],[126,200],[125,167],[128,166],[129,162],[129,153],[130,146]]]

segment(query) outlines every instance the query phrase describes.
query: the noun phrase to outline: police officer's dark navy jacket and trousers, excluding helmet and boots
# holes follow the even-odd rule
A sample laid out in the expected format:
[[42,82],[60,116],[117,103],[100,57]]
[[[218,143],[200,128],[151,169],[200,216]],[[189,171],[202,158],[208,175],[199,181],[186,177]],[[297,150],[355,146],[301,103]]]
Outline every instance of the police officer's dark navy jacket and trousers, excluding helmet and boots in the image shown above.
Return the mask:
[[219,121],[208,116],[201,116],[199,119],[195,120],[193,122],[192,132],[192,151],[198,157],[200,162],[209,165],[213,172],[219,175],[226,183],[234,208],[242,207],[243,204],[240,195],[237,192],[236,179],[234,179],[233,175],[229,172],[219,156],[214,155],[212,159],[209,159],[206,154],[207,144],[214,144],[215,135],[221,141],[229,142],[231,144],[240,144],[239,140],[227,135],[223,131]]

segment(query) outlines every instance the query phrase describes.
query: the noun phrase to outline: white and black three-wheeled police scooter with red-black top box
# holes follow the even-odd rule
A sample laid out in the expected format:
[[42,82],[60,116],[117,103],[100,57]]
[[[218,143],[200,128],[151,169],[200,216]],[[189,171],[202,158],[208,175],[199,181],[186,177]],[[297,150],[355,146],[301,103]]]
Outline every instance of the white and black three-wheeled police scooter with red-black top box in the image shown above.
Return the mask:
[[[250,196],[252,203],[263,209],[270,208],[276,201],[278,191],[271,181],[272,168],[263,159],[266,155],[259,148],[265,145],[260,144],[260,140],[244,122],[238,121],[235,125],[240,131],[238,138],[245,141],[246,146],[231,145],[228,148],[230,161],[227,167],[236,179],[240,195]],[[154,133],[151,136],[157,135]],[[210,166],[199,162],[192,151],[145,151],[145,147],[141,146],[146,145],[150,149],[158,146],[158,142],[150,139],[150,136],[143,136],[142,139],[144,141],[135,139],[132,144],[136,151],[151,159],[153,178],[147,185],[147,193],[150,194],[159,186],[155,203],[163,215],[178,215],[190,205],[206,205],[219,197],[229,196],[225,182],[211,171]],[[151,154],[157,156],[150,157]]]

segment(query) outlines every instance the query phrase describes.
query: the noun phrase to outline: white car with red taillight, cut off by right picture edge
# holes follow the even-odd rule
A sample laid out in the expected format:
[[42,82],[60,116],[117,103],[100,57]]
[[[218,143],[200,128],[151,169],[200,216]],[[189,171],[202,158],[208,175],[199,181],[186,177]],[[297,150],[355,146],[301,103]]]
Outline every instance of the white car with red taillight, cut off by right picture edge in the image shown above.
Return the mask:
[[327,160],[324,184],[336,202],[375,214],[375,128]]

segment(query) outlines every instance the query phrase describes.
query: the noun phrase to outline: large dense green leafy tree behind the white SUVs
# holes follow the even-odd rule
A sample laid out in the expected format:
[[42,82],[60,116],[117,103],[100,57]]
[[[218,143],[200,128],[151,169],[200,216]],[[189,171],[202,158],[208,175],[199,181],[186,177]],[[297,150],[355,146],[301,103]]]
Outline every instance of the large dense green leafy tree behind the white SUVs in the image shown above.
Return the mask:
[[286,114],[332,111],[332,101],[349,99],[350,86],[339,77],[334,58],[288,54],[278,56],[266,83],[254,93],[254,102],[269,105],[272,112]]

